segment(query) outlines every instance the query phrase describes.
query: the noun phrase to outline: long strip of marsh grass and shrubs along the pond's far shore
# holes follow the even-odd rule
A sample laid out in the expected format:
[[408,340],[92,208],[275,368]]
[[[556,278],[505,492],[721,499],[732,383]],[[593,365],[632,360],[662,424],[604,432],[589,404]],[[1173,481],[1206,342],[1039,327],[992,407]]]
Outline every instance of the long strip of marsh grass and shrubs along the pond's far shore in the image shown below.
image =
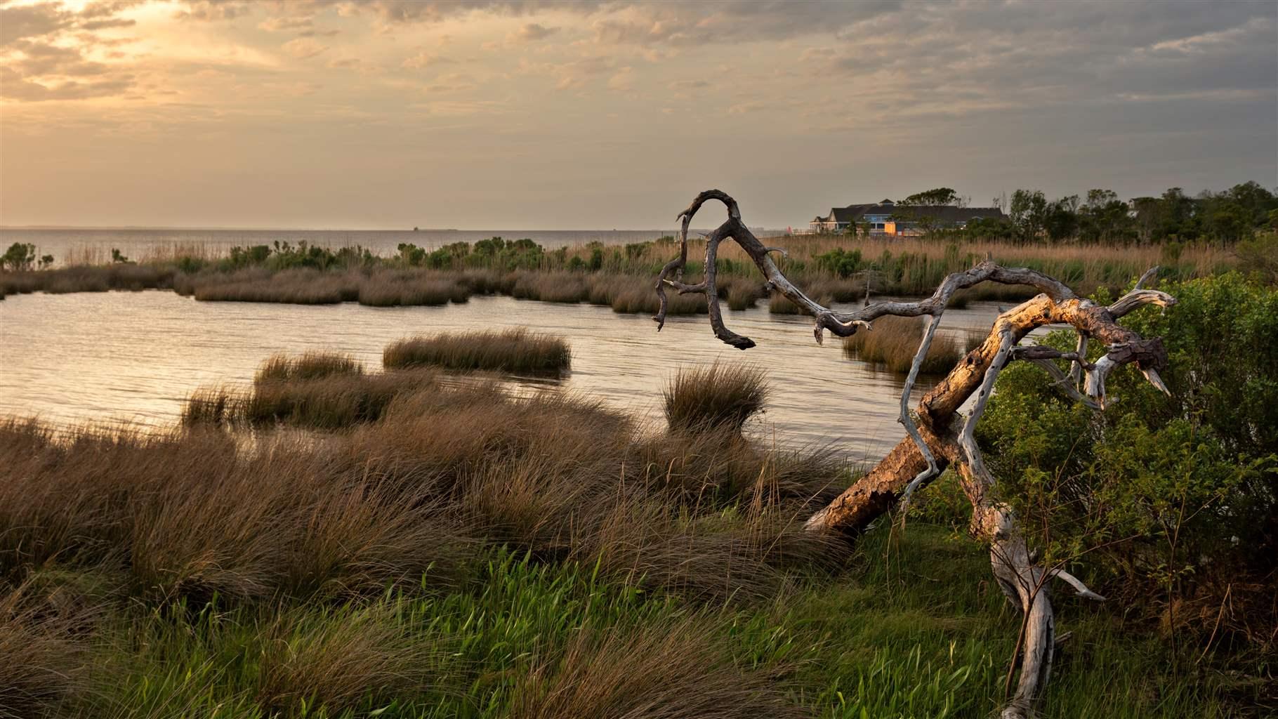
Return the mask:
[[[1160,266],[1159,277],[1185,281],[1229,269],[1269,271],[1278,235],[1251,244],[1164,245],[1025,244],[985,239],[854,238],[787,235],[769,244],[786,249],[778,263],[814,298],[863,301],[881,295],[930,294],[941,278],[985,257],[1006,266],[1031,267],[1081,294],[1117,290],[1130,277]],[[674,238],[627,245],[598,243],[544,249],[532,240],[492,238],[454,243],[433,250],[400,245],[397,254],[374,255],[359,246],[340,249],[276,243],[233,248],[217,254],[207,246],[173,246],[141,262],[116,262],[0,271],[0,296],[19,292],[174,290],[199,301],[266,301],[369,307],[443,305],[474,295],[509,295],[555,303],[589,303],[619,313],[656,313],[652,282],[677,253]],[[84,253],[81,253],[84,254]],[[704,240],[689,240],[689,257],[704,254]],[[1259,258],[1259,259],[1258,259]],[[700,263],[689,261],[699,276]],[[785,298],[769,298],[749,258],[732,243],[718,259],[721,299],[731,309],[766,301],[769,312],[797,312]],[[982,285],[961,292],[951,307],[970,300],[1015,301],[1030,296],[1019,286]],[[670,295],[670,314],[707,312],[699,295]]]

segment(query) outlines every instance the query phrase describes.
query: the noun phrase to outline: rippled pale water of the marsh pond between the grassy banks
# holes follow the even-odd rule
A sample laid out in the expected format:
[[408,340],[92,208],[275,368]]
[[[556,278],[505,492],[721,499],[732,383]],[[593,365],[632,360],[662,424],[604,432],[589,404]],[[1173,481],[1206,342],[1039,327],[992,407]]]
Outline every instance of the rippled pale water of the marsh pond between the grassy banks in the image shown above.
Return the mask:
[[[950,310],[942,332],[984,331],[996,313],[994,303]],[[658,333],[648,315],[511,298],[369,308],[197,303],[171,291],[10,295],[0,301],[0,415],[171,425],[193,390],[248,384],[272,352],[336,350],[376,369],[382,347],[401,337],[518,324],[571,344],[573,370],[557,384],[654,420],[661,388],[679,367],[720,359],[767,369],[773,397],[750,427],[760,439],[875,460],[904,437],[900,377],[843,358],[837,338],[817,345],[806,318],[757,308],[725,309],[725,319],[758,346],[723,345],[705,317],[671,318]],[[916,395],[929,386],[920,383]]]

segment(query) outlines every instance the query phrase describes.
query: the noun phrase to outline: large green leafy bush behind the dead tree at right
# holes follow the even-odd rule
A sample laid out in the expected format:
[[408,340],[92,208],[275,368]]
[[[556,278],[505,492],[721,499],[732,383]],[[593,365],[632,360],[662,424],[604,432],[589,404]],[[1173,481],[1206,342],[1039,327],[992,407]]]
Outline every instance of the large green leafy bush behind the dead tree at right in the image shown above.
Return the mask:
[[[1017,363],[999,375],[978,439],[1048,564],[1166,599],[1173,628],[1199,602],[1210,630],[1217,580],[1274,570],[1278,290],[1236,273],[1164,289],[1176,307],[1123,323],[1163,338],[1171,397],[1122,368],[1108,383],[1117,401],[1093,412]],[[1045,342],[1072,347],[1074,337]]]

